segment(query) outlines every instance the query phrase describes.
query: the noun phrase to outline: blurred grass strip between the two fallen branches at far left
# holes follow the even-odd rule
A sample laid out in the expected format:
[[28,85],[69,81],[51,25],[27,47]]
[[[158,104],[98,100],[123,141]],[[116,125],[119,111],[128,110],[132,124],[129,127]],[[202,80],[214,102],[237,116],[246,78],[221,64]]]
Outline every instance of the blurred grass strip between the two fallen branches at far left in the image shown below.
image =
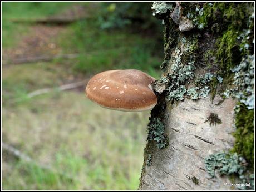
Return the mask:
[[2,97],[7,102],[8,100],[25,97],[33,90],[62,85],[69,77],[73,76],[69,63],[39,62],[13,65],[3,68]]

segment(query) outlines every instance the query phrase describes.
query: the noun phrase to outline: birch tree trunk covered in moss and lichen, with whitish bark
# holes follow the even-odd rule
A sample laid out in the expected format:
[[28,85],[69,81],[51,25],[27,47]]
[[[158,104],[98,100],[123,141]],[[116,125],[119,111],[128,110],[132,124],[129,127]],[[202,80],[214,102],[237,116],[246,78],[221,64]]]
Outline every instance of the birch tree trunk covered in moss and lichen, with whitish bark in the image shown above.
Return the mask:
[[165,58],[139,189],[253,189],[254,4],[152,9],[165,25]]

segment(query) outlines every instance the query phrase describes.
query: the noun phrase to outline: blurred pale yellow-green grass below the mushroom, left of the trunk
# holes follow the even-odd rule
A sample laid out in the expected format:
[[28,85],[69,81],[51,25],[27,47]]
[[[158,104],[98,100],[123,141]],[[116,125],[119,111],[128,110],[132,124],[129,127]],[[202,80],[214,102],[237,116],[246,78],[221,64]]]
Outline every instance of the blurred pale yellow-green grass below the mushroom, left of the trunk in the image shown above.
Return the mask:
[[3,142],[53,169],[18,161],[3,172],[3,189],[137,189],[148,116],[104,109],[76,92],[3,108]]

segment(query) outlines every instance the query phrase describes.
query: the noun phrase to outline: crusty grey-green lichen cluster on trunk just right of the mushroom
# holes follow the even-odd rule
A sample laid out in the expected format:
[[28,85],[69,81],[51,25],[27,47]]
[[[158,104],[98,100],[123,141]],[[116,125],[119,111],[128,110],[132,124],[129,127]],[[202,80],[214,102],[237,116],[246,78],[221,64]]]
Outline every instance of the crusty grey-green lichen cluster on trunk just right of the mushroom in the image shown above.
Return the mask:
[[[166,87],[166,99],[171,100],[184,100],[185,97],[196,100],[202,97],[207,97],[210,93],[210,82],[216,77],[214,73],[206,73],[200,75],[195,80],[195,62],[196,62],[196,43],[197,39],[194,38],[189,41],[184,36],[180,41],[183,43],[182,48],[175,48],[172,55],[173,60],[170,65],[169,86]],[[186,58],[186,59],[184,59]],[[195,82],[195,87],[187,88],[186,84],[190,80]],[[221,78],[219,77],[219,80]]]

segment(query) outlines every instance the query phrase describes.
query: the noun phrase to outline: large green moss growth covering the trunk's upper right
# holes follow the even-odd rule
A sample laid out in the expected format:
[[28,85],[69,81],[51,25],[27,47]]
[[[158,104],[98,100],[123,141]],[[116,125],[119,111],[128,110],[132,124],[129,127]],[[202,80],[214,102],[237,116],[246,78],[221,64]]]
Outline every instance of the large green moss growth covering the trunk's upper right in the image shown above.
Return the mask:
[[183,2],[183,16],[191,19],[203,33],[211,34],[215,46],[202,49],[203,59],[208,71],[215,71],[218,79],[210,84],[211,98],[222,94],[232,85],[234,74],[230,69],[237,66],[245,55],[253,54],[254,8],[253,3]]

